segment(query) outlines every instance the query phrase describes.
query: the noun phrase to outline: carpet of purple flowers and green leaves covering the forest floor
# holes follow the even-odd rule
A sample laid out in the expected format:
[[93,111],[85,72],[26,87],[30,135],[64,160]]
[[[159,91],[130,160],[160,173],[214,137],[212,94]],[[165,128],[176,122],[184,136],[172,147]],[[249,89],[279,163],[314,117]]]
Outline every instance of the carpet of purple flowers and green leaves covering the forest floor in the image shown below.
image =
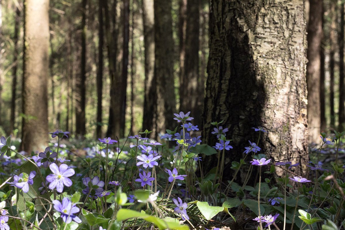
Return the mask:
[[[233,149],[228,129],[213,122],[218,142],[208,146],[193,133],[199,127],[189,115],[176,113],[177,128],[158,141],[145,130],[80,143],[57,130],[45,151],[28,154],[17,152],[18,140],[1,137],[0,229],[345,227],[345,132],[322,133],[310,161],[300,165],[266,156],[259,143],[266,131],[256,127],[256,142],[248,140],[242,159],[226,169]],[[218,159],[205,175],[204,155]],[[295,167],[306,174],[297,175]],[[225,173],[233,179],[224,181]],[[250,184],[251,177],[257,182]]]

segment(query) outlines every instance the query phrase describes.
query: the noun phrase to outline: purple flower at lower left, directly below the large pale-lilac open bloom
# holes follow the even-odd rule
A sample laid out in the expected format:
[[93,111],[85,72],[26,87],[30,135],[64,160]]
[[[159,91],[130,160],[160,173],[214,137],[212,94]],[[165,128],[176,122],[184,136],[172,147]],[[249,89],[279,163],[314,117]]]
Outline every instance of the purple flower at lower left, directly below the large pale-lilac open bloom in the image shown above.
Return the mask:
[[79,217],[75,213],[79,212],[79,208],[76,204],[73,204],[67,197],[62,199],[62,203],[58,200],[53,200],[54,209],[61,213],[63,222],[70,223],[72,220],[81,223]]

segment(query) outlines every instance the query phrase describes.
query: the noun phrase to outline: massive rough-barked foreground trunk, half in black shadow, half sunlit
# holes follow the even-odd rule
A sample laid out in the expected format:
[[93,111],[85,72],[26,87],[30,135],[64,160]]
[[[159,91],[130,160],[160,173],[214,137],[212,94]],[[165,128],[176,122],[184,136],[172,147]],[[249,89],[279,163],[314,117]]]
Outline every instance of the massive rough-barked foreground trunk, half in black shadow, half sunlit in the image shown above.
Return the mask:
[[[303,1],[211,0],[209,44],[205,142],[212,146],[217,141],[210,122],[224,120],[227,139],[233,139],[226,161],[230,167],[248,140],[257,142],[252,127],[261,126],[267,132],[259,146],[273,162],[306,162]],[[205,157],[203,164],[208,172],[217,158]]]

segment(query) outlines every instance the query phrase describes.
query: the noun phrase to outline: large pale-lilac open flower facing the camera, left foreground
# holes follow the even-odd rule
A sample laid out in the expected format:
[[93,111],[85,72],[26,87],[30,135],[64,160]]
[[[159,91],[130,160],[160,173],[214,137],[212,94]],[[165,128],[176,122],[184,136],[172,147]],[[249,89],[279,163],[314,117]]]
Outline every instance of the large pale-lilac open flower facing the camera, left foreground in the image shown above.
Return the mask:
[[49,189],[53,190],[56,188],[56,191],[62,192],[64,185],[67,187],[72,186],[72,181],[69,177],[74,175],[74,169],[68,169],[67,164],[61,164],[58,167],[56,163],[50,164],[49,168],[53,173],[47,176],[47,181],[50,183]]

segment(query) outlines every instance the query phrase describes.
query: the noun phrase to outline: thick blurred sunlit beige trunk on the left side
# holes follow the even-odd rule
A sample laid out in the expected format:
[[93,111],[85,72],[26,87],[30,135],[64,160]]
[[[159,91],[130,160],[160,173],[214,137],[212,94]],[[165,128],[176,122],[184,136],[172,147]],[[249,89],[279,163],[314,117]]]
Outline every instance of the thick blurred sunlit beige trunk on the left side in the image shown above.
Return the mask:
[[22,87],[22,150],[43,150],[48,144],[49,0],[24,3],[24,74]]

